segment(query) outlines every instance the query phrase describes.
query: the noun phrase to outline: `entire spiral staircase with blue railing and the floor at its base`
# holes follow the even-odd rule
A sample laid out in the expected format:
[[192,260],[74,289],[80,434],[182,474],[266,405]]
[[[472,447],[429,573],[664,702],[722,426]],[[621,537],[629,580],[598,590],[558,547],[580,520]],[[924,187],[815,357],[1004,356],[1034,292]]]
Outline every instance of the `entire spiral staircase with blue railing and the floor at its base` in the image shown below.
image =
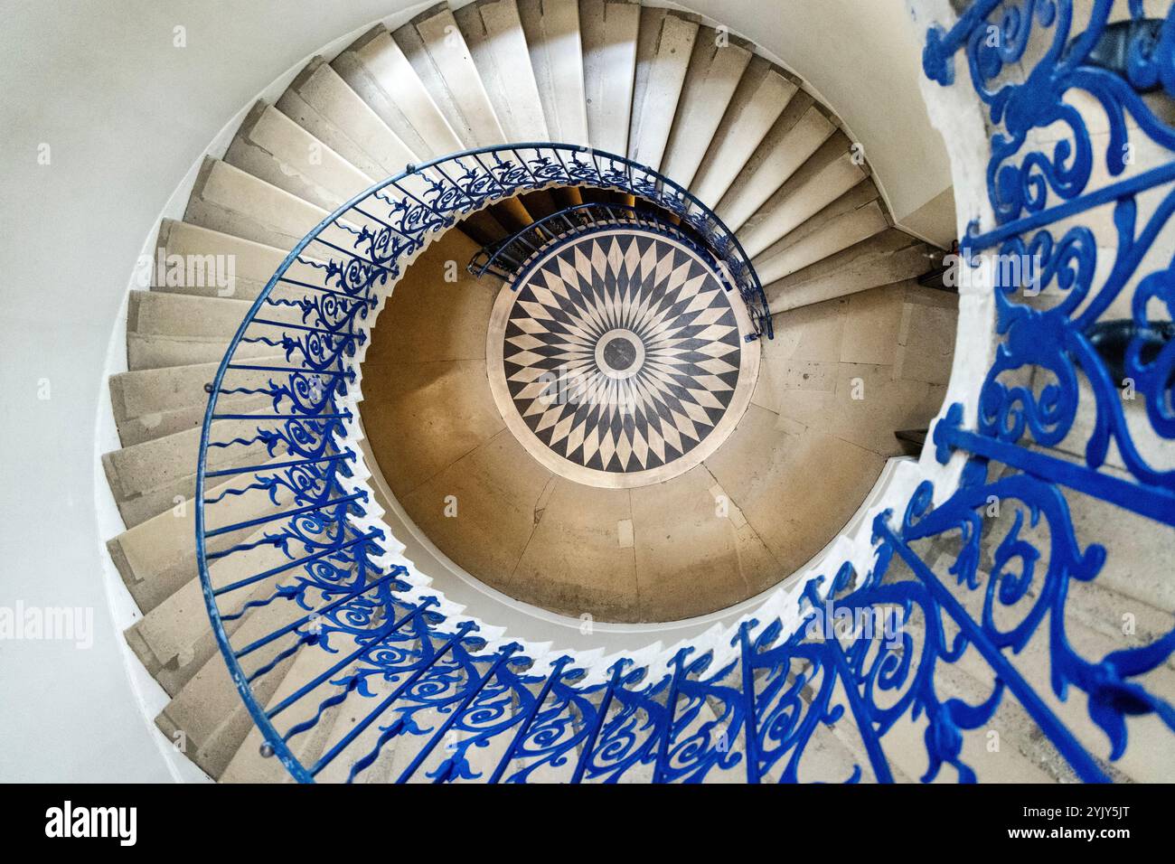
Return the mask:
[[[915,6],[958,293],[716,22],[485,0],[315,59],[163,222],[110,380],[156,725],[223,782],[1175,777],[1175,73],[1073,61],[1169,48],[1153,6]],[[516,386],[584,346],[634,410]]]

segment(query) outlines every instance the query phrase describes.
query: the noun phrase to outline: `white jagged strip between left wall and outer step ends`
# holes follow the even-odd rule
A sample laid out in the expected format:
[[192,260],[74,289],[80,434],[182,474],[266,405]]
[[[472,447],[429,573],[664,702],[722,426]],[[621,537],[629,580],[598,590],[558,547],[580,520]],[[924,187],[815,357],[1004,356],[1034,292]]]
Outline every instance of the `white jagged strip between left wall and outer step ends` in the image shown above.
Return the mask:
[[[107,382],[110,376],[127,371],[128,304],[133,292],[143,290],[150,287],[150,267],[155,261],[155,243],[159,239],[159,232],[163,225],[163,220],[183,220],[184,208],[187,207],[188,199],[192,196],[192,190],[196,185],[196,178],[200,174],[200,168],[204,163],[204,160],[209,156],[216,159],[223,158],[224,153],[228,150],[228,146],[231,143],[237,130],[241,128],[241,125],[244,122],[248,113],[257,103],[257,100],[263,99],[268,102],[276,101],[277,98],[286,92],[290,82],[315,56],[322,56],[330,61],[376,25],[384,24],[389,27],[389,29],[398,27],[434,5],[435,0],[422,0],[421,2],[414,4],[409,8],[394,15],[376,18],[363,26],[350,31],[349,33],[333,39],[327,45],[310,52],[304,58],[291,65],[286,72],[275,78],[251,99],[247,100],[241,109],[229,118],[224,126],[221,127],[221,130],[216,134],[216,136],[196,156],[192,163],[192,168],[188,169],[188,173],[176,185],[175,189],[167,199],[167,202],[160,209],[159,215],[155,217],[155,221],[147,232],[147,236],[143,239],[139,259],[136,260],[136,264],[127,281],[127,287],[122,296],[122,303],[119,307],[119,313],[115,317],[114,327],[112,328],[110,341],[106,349],[106,360],[103,363],[102,375],[100,377],[102,383],[98,397],[98,418],[95,422],[96,434],[94,436],[93,458],[94,511],[98,515],[99,537],[114,537],[127,530],[127,527],[122,521],[122,516],[119,514],[119,508],[115,504],[109,483],[106,480],[106,474],[102,469],[102,454],[118,450],[122,447],[119,440],[118,427],[114,422],[114,410],[110,403],[110,388]],[[107,607],[109,608],[110,617],[114,621],[114,629],[118,634],[120,634],[116,642],[119,644],[120,657],[126,670],[127,681],[130,684],[132,692],[135,695],[143,723],[159,744],[160,754],[163,757],[163,762],[167,765],[172,778],[177,783],[213,782],[196,766],[192,759],[173,746],[172,742],[163,737],[159,731],[159,728],[155,725],[155,717],[157,717],[160,711],[167,706],[170,697],[166,694],[160,683],[155,681],[146,670],[142,662],[130,650],[127,641],[121,637],[121,634],[127,628],[142,618],[142,612],[140,612],[134,598],[130,596],[130,591],[127,589],[122,577],[114,565],[114,562],[110,560],[105,541],[98,547],[98,560],[101,562],[101,578],[106,592]]]

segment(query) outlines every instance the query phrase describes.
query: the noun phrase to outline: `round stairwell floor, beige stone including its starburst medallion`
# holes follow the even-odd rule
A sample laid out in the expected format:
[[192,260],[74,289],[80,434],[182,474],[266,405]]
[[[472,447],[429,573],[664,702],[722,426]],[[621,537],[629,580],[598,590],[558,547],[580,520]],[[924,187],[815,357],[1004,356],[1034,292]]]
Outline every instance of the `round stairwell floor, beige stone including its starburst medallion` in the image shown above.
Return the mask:
[[[368,444],[417,533],[511,597],[592,622],[726,609],[831,542],[901,453],[894,431],[928,424],[954,299],[907,280],[763,314],[760,335],[756,306],[720,289],[720,267],[685,263],[704,240],[677,242],[672,223],[627,210],[623,193],[579,193],[596,202],[524,195],[538,236],[497,249],[497,273],[455,266],[478,254],[463,230],[408,269],[363,363]],[[912,353],[931,315],[947,324],[931,375],[894,371],[904,314]],[[870,357],[854,334],[879,324],[892,343]],[[609,350],[625,351],[623,368]],[[850,362],[860,360],[887,362]],[[814,373],[820,389],[800,391]],[[851,393],[874,384],[880,417]],[[813,395],[806,415],[780,410]],[[801,488],[807,503],[791,491]]]

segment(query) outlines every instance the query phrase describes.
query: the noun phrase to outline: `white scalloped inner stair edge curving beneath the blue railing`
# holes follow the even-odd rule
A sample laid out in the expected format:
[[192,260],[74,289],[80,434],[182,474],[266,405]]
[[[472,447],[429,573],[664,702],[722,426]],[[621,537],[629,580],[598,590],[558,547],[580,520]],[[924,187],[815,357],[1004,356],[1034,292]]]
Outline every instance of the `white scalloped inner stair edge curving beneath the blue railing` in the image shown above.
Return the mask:
[[[430,237],[430,241],[434,239]],[[363,322],[364,331],[369,331],[376,324],[394,290],[395,286],[391,286],[381,293],[374,313]],[[959,315],[960,320],[967,322],[967,327],[958,328],[951,383],[944,406],[931,424],[932,435],[934,424],[954,402],[961,402],[972,407],[969,410],[974,410],[973,407],[978,404],[979,391],[991,364],[989,354],[994,350],[993,294],[968,292],[961,295]],[[522,652],[533,659],[535,674],[548,672],[555,661],[568,652],[573,652],[576,667],[586,674],[585,683],[605,683],[610,669],[622,658],[662,670],[686,645],[693,649],[694,656],[712,650],[713,668],[721,668],[738,657],[736,636],[744,621],[753,618],[759,622],[759,627],[765,627],[778,618],[784,625],[785,635],[790,635],[801,621],[800,600],[804,587],[810,580],[821,575],[826,577],[825,590],[820,591],[824,595],[832,577],[846,562],[852,563],[857,577],[862,578],[871,570],[874,558],[873,520],[889,510],[891,523],[900,524],[907,503],[924,481],[933,483],[935,504],[951,497],[967,460],[965,454],[956,454],[946,466],[941,466],[935,458],[933,444],[924,448],[918,461],[891,460],[850,523],[812,561],[784,582],[737,607],[711,616],[659,625],[612,624],[604,629],[602,624],[593,624],[595,632],[609,634],[607,649],[598,647],[599,638],[596,637],[592,642],[597,647],[577,650],[573,642],[580,625],[578,618],[566,618],[539,610],[477,583],[477,580],[449,562],[418,530],[414,530],[411,521],[402,509],[398,509],[387,482],[378,476],[378,463],[367,446],[361,420],[363,359],[369,344],[370,339],[365,340],[355,356],[348,361],[348,368],[354,371],[355,381],[348,389],[347,396],[340,400],[338,408],[341,411],[349,411],[351,420],[344,421],[345,431],[336,436],[340,448],[354,448],[364,457],[363,464],[356,466],[355,475],[343,483],[348,493],[364,493],[368,496],[368,515],[362,518],[352,517],[356,529],[362,531],[381,529],[389,537],[384,543],[387,551],[375,558],[374,563],[384,568],[398,565],[407,570],[404,581],[411,588],[402,595],[405,602],[436,597],[438,604],[435,608],[445,616],[445,622],[436,628],[438,631],[451,632],[458,623],[472,621],[478,627],[478,636],[485,639],[482,652],[494,654],[508,644],[518,643],[522,645]],[[380,498],[394,508],[394,516],[401,524],[409,527],[412,540],[432,555],[437,562],[437,570],[425,574],[404,555],[405,545],[396,540],[391,524],[384,520],[385,511],[380,504]],[[398,511],[395,511],[396,509]],[[442,581],[445,584],[442,584]],[[477,584],[478,590],[470,590],[474,584]],[[445,588],[455,589],[454,595],[466,600],[468,605],[448,596]],[[505,625],[501,622],[505,622]],[[573,629],[569,630],[569,625]]]

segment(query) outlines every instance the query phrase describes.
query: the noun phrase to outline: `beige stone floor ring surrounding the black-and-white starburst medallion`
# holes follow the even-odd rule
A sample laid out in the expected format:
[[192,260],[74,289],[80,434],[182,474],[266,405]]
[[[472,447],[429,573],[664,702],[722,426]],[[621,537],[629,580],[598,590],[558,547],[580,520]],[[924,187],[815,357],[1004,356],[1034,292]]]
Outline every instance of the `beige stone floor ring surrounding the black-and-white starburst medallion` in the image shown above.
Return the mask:
[[774,317],[753,402],[703,464],[631,490],[580,485],[529,456],[495,407],[485,331],[501,283],[465,273],[476,252],[450,232],[396,287],[364,362],[363,423],[424,535],[557,612],[676,621],[770,588],[838,534],[901,453],[894,431],[925,428],[945,393],[954,297],[862,292]]

